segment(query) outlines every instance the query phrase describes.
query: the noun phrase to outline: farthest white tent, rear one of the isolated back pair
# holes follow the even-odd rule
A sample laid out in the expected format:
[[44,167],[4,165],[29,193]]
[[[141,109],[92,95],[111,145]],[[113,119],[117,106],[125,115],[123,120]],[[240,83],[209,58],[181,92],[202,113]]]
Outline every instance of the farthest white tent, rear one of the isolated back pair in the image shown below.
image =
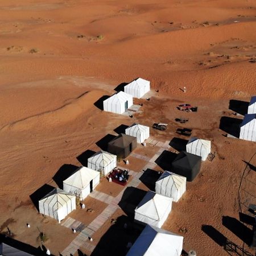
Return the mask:
[[150,81],[138,78],[125,86],[125,92],[131,94],[134,98],[141,98],[150,91]]

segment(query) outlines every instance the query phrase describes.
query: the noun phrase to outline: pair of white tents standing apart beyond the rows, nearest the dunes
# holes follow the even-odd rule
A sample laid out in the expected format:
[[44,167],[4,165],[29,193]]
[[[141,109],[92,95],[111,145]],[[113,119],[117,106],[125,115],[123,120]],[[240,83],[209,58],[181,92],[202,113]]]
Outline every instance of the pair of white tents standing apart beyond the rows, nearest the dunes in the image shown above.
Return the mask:
[[103,101],[103,110],[115,114],[123,114],[133,105],[133,97],[141,98],[150,91],[150,81],[138,78],[127,84],[125,92],[117,92]]

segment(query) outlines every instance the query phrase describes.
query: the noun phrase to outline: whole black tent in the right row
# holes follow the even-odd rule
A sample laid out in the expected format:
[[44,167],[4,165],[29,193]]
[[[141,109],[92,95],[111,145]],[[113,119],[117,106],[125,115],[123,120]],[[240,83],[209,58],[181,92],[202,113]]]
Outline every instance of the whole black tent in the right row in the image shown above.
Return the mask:
[[201,160],[201,156],[182,151],[172,162],[171,171],[192,181],[200,171]]

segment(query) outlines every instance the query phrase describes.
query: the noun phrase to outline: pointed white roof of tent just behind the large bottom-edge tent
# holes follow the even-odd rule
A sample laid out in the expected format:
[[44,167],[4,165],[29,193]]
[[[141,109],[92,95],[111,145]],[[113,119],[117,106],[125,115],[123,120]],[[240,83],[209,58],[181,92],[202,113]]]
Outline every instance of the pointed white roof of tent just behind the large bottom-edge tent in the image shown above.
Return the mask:
[[147,216],[152,220],[159,221],[166,212],[166,208],[170,203],[172,203],[172,199],[170,197],[148,191],[138,204],[135,212]]

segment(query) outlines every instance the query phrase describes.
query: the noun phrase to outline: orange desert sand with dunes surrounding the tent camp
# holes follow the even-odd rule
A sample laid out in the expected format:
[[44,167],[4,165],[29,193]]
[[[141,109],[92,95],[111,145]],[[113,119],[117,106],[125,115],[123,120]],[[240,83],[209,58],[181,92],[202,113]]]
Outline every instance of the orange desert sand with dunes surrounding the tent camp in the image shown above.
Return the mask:
[[[256,93],[255,1],[2,0],[0,17],[1,233],[8,227],[15,239],[38,247],[38,230],[44,230],[57,255],[77,234],[40,216],[30,195],[44,184],[56,187],[52,177],[61,166],[79,166],[78,156],[99,150],[96,142],[121,124],[166,122],[167,131],[151,129],[151,135],[171,141],[181,126],[174,119],[187,117],[193,135],[212,141],[216,158],[187,184],[163,228],[184,236],[184,250],[201,256],[229,255],[210,238],[209,226],[254,253],[225,217],[239,220],[255,203],[249,184],[255,172],[247,168],[245,180],[243,171],[245,162],[256,165],[256,144],[226,138],[219,127],[222,116],[234,117],[230,100],[249,101]],[[129,118],[94,105],[136,77],[159,90],[150,101],[135,100],[143,102],[142,113]],[[180,113],[176,106],[183,102],[199,111]],[[136,152],[151,157],[152,150]],[[143,167],[138,159],[130,162],[135,171]],[[115,196],[122,188],[102,180],[97,189]],[[94,211],[71,217],[88,224],[105,204],[86,200]],[[113,218],[123,214],[118,209]],[[98,230],[94,245],[111,225]]]

